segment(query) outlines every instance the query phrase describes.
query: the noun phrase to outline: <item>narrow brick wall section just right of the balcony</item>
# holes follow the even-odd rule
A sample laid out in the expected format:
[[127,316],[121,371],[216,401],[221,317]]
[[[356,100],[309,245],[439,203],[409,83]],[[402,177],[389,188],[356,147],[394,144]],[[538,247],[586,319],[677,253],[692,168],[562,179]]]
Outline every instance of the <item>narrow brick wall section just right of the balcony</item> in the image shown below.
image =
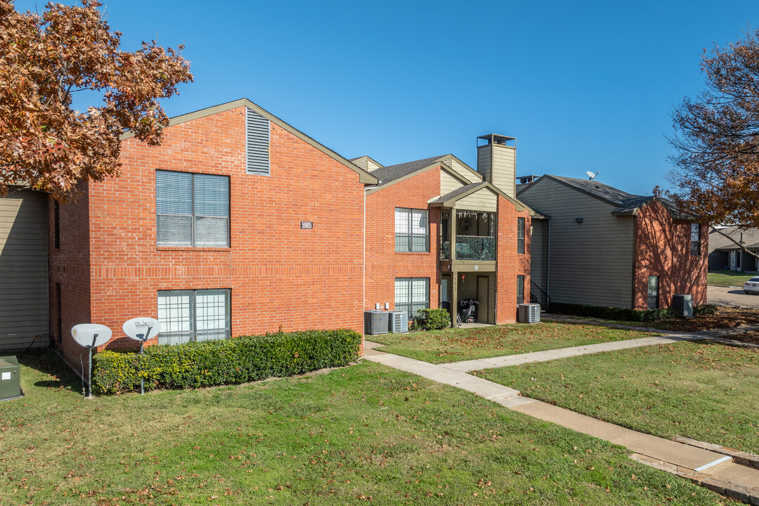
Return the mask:
[[[517,253],[517,218],[524,218],[524,254]],[[517,317],[517,276],[524,275],[524,302],[530,302],[530,215],[498,196],[498,265],[496,266],[496,323]]]

